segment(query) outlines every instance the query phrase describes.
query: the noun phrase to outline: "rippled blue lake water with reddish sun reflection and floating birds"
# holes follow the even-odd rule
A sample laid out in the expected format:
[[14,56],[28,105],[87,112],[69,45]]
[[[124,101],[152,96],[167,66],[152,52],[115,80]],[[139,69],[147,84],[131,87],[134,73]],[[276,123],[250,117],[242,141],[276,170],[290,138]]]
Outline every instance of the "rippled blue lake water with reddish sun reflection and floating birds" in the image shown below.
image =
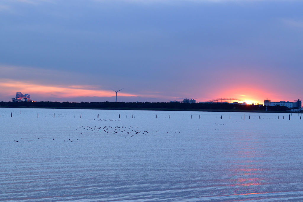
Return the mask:
[[0,108],[0,201],[303,201],[300,116]]

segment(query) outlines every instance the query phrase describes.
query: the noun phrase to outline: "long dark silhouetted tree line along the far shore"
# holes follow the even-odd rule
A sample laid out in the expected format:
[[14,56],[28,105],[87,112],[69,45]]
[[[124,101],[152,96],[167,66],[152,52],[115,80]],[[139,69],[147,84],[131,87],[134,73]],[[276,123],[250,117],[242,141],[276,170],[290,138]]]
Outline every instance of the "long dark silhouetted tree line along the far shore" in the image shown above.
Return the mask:
[[[140,109],[140,110],[252,110],[265,111],[263,105],[228,103],[125,103],[125,102],[0,102],[0,107],[21,108],[75,108],[75,109]],[[287,111],[285,106],[268,106],[268,111]]]

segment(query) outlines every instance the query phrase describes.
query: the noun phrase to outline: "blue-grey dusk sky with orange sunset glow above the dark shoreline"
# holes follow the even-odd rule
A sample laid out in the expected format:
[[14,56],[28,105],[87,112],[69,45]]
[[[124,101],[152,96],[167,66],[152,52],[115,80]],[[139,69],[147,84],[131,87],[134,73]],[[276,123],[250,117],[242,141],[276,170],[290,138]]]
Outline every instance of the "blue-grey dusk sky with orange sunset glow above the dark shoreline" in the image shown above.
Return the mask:
[[300,0],[0,0],[0,101],[303,99]]

